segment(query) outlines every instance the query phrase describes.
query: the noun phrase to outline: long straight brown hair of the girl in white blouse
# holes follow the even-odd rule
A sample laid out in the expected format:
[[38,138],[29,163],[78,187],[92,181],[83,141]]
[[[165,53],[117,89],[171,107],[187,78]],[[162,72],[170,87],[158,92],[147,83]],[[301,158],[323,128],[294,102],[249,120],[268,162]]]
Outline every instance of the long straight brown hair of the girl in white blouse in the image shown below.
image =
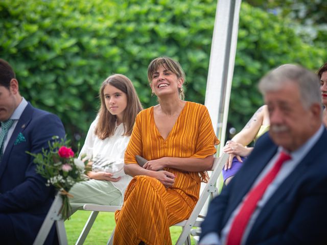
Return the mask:
[[95,134],[100,139],[105,139],[112,136],[115,129],[115,121],[117,118],[108,111],[103,94],[103,90],[107,85],[114,86],[127,95],[127,106],[124,111],[123,124],[125,128],[124,135],[130,136],[133,130],[135,117],[143,108],[132,82],[122,74],[114,74],[108,77],[101,85],[99,91],[101,106],[98,112],[99,121],[95,128]]

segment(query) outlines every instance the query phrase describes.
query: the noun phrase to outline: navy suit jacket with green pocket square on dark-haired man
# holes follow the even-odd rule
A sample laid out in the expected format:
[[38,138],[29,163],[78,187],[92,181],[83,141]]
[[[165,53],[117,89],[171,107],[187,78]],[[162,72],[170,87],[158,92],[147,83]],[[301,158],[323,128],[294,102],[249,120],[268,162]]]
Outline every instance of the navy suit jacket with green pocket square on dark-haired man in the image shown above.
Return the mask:
[[[16,142],[18,134],[25,141]],[[0,213],[11,219],[16,241],[32,244],[53,202],[54,189],[36,174],[33,158],[26,153],[49,148],[48,141],[65,136],[61,120],[54,114],[28,104],[17,122],[0,163]],[[1,222],[1,220],[0,220]],[[3,238],[1,238],[3,239]],[[54,239],[54,229],[48,244]]]

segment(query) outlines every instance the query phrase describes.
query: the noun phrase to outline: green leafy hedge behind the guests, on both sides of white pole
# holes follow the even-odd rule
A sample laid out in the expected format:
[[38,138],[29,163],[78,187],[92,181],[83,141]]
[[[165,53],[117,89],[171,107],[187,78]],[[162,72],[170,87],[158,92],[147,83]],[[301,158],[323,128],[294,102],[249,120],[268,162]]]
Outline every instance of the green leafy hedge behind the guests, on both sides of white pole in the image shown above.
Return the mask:
[[[162,55],[186,72],[186,100],[204,103],[216,12],[212,0],[2,0],[0,57],[14,67],[22,95],[84,139],[98,89],[113,73],[128,76],[143,103],[156,103],[147,66]],[[229,122],[238,130],[263,102],[256,83],[270,68],[300,63],[317,69],[326,57],[303,43],[287,21],[242,4]]]

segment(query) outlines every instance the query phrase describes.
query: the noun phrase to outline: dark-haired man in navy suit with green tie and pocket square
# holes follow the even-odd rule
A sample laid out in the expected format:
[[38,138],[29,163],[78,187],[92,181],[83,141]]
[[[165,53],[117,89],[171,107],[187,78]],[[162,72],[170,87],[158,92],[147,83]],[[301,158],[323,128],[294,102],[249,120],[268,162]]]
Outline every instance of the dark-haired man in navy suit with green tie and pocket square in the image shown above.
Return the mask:
[[[0,59],[0,243],[32,244],[54,198],[54,189],[35,171],[33,157],[63,138],[61,120],[33,108],[18,90],[9,63]],[[55,241],[55,229],[46,244]]]

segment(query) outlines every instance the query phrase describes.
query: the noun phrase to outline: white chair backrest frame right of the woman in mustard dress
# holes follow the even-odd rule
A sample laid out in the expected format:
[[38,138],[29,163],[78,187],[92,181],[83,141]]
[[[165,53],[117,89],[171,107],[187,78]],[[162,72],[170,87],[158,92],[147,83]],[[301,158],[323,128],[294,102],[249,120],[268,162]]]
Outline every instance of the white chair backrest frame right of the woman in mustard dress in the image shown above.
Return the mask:
[[205,185],[205,188],[200,193],[199,200],[197,204],[195,205],[190,217],[188,220],[184,220],[183,222],[180,222],[178,224],[175,224],[175,226],[182,226],[183,230],[176,242],[176,245],[182,244],[186,238],[188,238],[190,231],[192,227],[199,227],[201,224],[201,221],[197,220],[205,202],[207,201],[209,195],[215,195],[218,194],[218,188],[216,187],[216,181],[225,165],[225,162],[228,159],[228,154],[223,153],[220,157],[215,157],[214,164],[212,167],[212,174],[210,179]]

